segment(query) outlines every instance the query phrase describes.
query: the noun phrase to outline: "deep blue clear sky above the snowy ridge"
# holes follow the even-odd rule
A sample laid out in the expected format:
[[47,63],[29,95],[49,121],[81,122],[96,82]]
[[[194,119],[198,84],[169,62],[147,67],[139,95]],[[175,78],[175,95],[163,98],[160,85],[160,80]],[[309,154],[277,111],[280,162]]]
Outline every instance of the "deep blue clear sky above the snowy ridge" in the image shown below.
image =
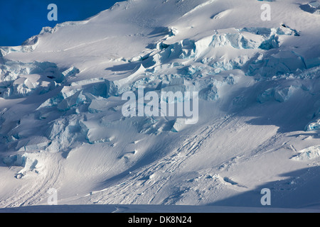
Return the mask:
[[[123,1],[123,0],[117,0]],[[21,45],[45,26],[81,21],[109,9],[114,0],[0,0],[0,46]],[[58,21],[48,21],[49,4],[58,6]]]

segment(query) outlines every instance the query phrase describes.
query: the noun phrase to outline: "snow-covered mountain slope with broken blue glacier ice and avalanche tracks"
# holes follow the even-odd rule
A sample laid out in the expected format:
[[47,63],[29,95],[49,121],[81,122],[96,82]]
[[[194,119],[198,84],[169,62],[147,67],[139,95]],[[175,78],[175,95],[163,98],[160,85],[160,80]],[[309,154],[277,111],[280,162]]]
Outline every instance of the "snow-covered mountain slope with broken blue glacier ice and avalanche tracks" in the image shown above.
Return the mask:
[[[262,21],[262,4],[271,21]],[[132,0],[0,47],[0,207],[320,209],[315,1]],[[122,94],[199,92],[199,118],[125,117]],[[183,100],[185,101],[185,100]]]

